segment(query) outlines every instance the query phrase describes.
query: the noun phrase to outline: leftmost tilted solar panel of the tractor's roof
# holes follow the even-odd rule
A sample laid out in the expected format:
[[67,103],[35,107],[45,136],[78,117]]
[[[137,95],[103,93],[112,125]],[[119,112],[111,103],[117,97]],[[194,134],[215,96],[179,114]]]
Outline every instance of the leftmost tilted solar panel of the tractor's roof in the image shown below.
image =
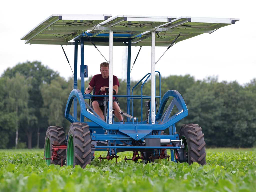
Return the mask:
[[112,15],[51,15],[20,40],[28,44],[66,45],[88,27],[107,20]]

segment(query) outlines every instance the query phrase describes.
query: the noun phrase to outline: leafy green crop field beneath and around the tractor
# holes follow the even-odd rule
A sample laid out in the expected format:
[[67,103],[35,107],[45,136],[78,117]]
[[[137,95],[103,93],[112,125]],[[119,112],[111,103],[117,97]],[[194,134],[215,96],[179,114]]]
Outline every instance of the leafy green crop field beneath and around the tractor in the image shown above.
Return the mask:
[[[104,152],[96,152],[98,157]],[[43,150],[0,150],[0,191],[256,191],[256,149],[208,149],[207,165],[92,161],[47,166]]]

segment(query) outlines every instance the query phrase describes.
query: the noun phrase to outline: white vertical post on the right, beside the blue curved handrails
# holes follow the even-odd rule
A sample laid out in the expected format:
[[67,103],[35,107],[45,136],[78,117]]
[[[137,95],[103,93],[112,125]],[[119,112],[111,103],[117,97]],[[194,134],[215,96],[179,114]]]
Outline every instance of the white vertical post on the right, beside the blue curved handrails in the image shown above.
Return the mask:
[[152,45],[151,45],[151,122],[155,124],[155,45],[156,32],[152,31]]

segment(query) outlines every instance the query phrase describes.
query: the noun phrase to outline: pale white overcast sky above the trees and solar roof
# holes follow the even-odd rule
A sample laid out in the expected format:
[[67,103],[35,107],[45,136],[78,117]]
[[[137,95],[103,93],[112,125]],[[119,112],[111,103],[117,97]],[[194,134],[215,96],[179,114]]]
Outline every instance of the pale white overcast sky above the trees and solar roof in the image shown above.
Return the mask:
[[[38,60],[62,77],[72,76],[60,45],[27,45],[19,40],[52,14],[112,14],[239,18],[240,21],[212,34],[202,34],[177,43],[157,63],[162,76],[190,74],[196,79],[218,76],[219,81],[240,84],[256,78],[255,1],[2,1],[0,11],[0,74],[19,62]],[[81,6],[79,5],[81,3]],[[63,46],[73,67],[73,46]],[[108,46],[97,46],[109,58]],[[156,60],[167,47],[156,47]],[[89,75],[99,73],[103,57],[85,46]],[[132,47],[131,65],[139,47]],[[126,79],[125,47],[114,47],[113,74]],[[78,53],[80,55],[80,52]],[[78,60],[80,62],[80,59]],[[95,65],[97,67],[95,67]],[[151,47],[142,47],[131,78],[141,79],[151,70]],[[79,68],[79,65],[78,65]]]

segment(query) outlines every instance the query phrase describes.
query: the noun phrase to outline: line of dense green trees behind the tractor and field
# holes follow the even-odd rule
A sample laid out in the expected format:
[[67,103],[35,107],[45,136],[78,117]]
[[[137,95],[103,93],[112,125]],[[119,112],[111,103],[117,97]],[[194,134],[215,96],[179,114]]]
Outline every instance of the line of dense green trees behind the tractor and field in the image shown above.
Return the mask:
[[[159,95],[158,78],[156,95]],[[85,86],[90,79],[86,78]],[[126,95],[126,81],[119,79],[119,83],[118,94]],[[131,81],[131,88],[136,83]],[[141,85],[134,89],[134,95],[141,94]],[[63,126],[68,133],[70,122],[64,118],[64,112],[72,89],[73,78],[65,80],[39,61],[8,68],[0,78],[0,148],[43,148],[47,127],[51,125]],[[179,91],[188,108],[188,116],[176,124],[177,131],[182,124],[195,123],[202,127],[208,147],[255,146],[256,79],[240,85],[236,81],[218,82],[216,77],[204,80],[195,80],[190,75],[162,77],[162,97],[168,90]],[[151,95],[150,79],[143,87],[143,95]],[[147,117],[148,109],[144,106],[147,100],[143,100],[143,120]],[[134,116],[140,120],[141,101],[133,101]],[[119,98],[119,103],[121,110],[126,111],[126,98]],[[80,118],[79,105],[77,114]]]

